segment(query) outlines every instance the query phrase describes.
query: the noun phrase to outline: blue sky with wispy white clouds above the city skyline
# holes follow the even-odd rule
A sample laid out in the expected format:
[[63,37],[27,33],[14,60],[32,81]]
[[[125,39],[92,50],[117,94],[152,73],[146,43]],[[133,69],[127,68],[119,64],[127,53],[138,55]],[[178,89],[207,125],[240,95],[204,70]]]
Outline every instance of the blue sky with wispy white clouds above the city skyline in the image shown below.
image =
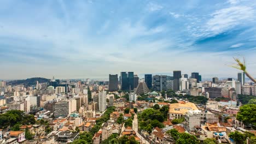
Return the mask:
[[0,79],[256,75],[256,1],[0,0]]

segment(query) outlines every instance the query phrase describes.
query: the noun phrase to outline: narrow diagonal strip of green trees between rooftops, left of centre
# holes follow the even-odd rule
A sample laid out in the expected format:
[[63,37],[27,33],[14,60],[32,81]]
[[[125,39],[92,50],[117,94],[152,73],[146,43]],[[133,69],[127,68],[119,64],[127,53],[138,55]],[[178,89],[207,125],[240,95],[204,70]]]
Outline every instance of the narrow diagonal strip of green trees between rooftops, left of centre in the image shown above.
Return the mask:
[[94,125],[94,127],[91,128],[91,130],[90,130],[91,135],[94,135],[95,133],[98,132],[98,130],[100,130],[102,123],[107,122],[109,120],[109,115],[113,111],[115,111],[114,106],[110,106],[107,108],[107,110],[104,112],[104,114],[101,116],[101,118],[96,120],[96,125]]

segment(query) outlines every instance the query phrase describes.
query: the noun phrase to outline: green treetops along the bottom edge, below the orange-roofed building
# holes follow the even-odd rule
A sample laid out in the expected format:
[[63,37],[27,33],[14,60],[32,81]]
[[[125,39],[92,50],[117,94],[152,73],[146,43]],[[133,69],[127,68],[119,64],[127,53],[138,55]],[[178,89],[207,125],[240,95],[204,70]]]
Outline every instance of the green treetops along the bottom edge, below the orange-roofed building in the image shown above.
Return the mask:
[[171,129],[166,132],[167,134],[170,134],[175,143],[177,144],[183,144],[183,143],[193,143],[193,144],[199,144],[200,141],[196,139],[194,135],[190,135],[188,133],[179,133],[176,129]]

